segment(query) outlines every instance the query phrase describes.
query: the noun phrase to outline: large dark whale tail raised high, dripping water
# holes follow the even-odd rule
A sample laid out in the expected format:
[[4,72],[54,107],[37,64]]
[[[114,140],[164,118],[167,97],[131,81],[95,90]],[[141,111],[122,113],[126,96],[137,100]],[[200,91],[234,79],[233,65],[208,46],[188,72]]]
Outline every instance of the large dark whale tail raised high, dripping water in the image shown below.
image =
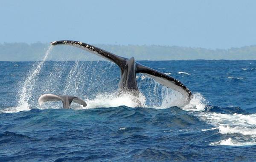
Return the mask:
[[163,86],[180,92],[185,97],[185,103],[188,103],[192,98],[192,92],[180,81],[160,71],[140,64],[139,62],[135,61],[134,57],[128,59],[122,56],[117,56],[99,47],[79,41],[60,40],[51,42],[51,45],[70,45],[74,47],[79,47],[83,50],[87,50],[90,53],[96,54],[108,61],[117,64],[120,68],[120,79],[118,84],[119,92],[128,91],[137,95],[139,93],[139,89],[137,85],[136,74],[143,73],[149,78],[157,81],[159,84],[162,84]]

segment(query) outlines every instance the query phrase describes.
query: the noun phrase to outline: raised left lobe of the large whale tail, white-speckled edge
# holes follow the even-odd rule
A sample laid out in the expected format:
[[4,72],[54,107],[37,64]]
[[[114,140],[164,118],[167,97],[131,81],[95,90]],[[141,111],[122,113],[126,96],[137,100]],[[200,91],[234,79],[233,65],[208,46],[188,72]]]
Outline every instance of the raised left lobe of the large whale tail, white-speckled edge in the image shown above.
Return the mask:
[[82,48],[82,49],[87,50],[91,53],[94,53],[94,54],[96,54],[100,57],[103,57],[104,59],[107,59],[109,61],[114,62],[115,64],[117,64],[121,68],[121,70],[125,66],[125,63],[126,63],[125,60],[127,60],[124,57],[117,56],[113,53],[110,53],[108,51],[102,50],[98,47],[95,47],[93,45],[89,45],[89,44],[86,44],[86,43],[83,43],[83,42],[70,41],[70,40],[61,40],[61,41],[51,42],[51,44],[52,45],[71,45],[71,46]]

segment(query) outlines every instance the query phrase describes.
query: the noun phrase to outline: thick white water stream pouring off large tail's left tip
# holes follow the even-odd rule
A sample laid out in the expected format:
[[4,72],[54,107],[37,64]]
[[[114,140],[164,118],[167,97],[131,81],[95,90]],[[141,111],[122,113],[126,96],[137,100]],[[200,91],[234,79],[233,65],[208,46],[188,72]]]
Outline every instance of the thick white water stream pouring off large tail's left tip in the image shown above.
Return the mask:
[[35,67],[35,69],[29,73],[28,77],[26,78],[20,90],[20,99],[18,103],[19,106],[13,109],[12,111],[19,112],[19,111],[30,110],[29,100],[32,97],[32,90],[35,87],[35,82],[38,79],[37,75],[40,73],[41,68],[43,67],[44,62],[46,61],[51,50],[52,50],[52,45],[48,47],[43,60],[40,61],[39,64]]

